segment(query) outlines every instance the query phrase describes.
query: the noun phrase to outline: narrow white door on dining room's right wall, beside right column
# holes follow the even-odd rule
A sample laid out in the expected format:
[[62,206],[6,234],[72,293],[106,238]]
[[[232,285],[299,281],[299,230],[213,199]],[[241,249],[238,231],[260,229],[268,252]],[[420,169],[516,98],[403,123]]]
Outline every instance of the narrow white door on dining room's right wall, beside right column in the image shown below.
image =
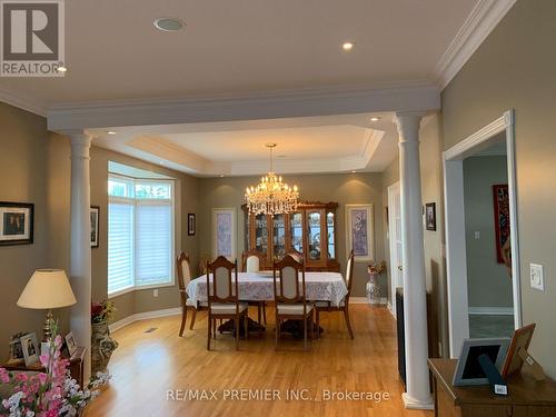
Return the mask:
[[390,312],[396,317],[396,289],[404,287],[404,249],[399,182],[388,187],[388,230],[390,247]]

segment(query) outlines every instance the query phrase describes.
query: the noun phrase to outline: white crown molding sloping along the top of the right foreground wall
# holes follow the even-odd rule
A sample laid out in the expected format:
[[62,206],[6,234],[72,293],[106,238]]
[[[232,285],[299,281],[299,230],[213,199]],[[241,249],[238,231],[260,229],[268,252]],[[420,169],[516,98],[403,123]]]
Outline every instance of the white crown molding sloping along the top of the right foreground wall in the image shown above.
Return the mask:
[[517,0],[479,0],[436,64],[440,91],[456,77]]

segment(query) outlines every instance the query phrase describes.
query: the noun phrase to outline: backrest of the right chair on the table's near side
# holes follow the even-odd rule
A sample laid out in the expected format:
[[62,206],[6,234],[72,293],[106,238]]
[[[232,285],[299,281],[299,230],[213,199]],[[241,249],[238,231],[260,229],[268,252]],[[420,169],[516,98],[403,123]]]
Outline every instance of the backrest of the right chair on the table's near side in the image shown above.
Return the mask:
[[290,255],[274,265],[276,302],[305,302],[305,265]]

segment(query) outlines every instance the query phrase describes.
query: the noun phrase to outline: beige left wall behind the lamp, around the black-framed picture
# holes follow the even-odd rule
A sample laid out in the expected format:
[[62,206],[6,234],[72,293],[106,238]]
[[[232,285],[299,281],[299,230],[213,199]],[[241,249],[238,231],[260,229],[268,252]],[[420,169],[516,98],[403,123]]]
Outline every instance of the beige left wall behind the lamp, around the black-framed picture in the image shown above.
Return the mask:
[[[0,103],[0,201],[34,203],[33,244],[0,246],[0,360],[4,360],[12,334],[29,330],[42,337],[44,311],[19,308],[16,302],[34,269],[50,267],[48,250],[58,241],[48,235],[46,120]],[[61,319],[64,329],[67,316]]]

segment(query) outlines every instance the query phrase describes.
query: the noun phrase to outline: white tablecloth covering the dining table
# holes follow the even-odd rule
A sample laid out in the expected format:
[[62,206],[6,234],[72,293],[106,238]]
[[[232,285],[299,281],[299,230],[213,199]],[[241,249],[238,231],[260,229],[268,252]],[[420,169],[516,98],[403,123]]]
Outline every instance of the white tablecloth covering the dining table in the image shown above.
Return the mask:
[[[232,276],[234,277],[234,276]],[[270,301],[275,299],[272,276],[256,272],[239,272],[239,299],[245,301]],[[305,272],[308,300],[331,301],[338,306],[347,295],[346,281],[338,272]],[[207,300],[207,276],[189,281],[187,294],[191,301]]]

